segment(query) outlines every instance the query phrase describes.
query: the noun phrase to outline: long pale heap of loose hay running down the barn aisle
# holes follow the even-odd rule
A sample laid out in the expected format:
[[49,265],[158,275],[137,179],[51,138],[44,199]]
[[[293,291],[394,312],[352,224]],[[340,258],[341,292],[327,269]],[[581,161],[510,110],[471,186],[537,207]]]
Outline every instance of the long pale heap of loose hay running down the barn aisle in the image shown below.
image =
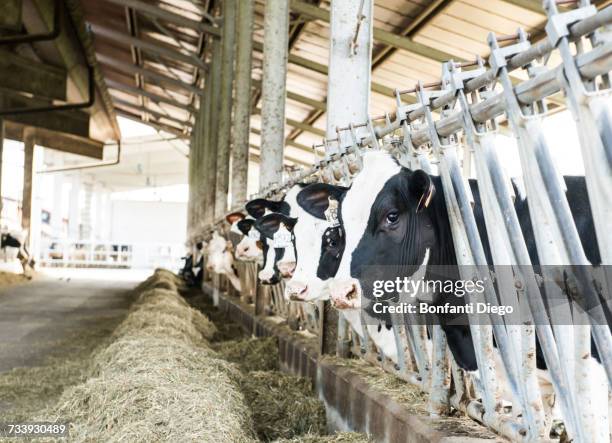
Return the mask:
[[214,325],[165,288],[173,280],[158,270],[140,285],[90,378],[41,418],[72,422],[77,442],[255,441],[240,370],[208,346]]

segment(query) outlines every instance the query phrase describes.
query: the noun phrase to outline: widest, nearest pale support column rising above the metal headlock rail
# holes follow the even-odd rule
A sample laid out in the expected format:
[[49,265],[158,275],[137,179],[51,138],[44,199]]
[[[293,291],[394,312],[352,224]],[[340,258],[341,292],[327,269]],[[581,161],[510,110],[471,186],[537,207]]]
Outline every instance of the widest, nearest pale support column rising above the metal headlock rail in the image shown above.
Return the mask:
[[[328,138],[336,127],[363,123],[368,118],[372,72],[372,0],[332,0],[330,15],[329,69],[327,75]],[[358,17],[363,17],[354,41]],[[341,134],[348,144],[350,134]],[[346,140],[344,138],[346,137]]]

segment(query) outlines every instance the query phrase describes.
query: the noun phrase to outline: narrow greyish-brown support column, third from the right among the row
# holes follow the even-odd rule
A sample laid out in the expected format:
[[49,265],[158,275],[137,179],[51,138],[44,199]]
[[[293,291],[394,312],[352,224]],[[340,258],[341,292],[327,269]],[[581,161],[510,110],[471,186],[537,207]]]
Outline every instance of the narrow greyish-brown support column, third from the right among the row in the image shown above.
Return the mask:
[[246,203],[251,120],[251,55],[253,52],[254,2],[238,2],[236,49],[236,101],[234,103],[234,146],[232,149],[232,203]]

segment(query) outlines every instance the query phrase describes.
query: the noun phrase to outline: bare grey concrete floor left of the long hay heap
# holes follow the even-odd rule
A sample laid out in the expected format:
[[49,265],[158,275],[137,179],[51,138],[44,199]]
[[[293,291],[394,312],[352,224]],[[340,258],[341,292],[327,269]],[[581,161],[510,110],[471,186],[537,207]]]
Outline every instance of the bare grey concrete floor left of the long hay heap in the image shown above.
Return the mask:
[[54,351],[54,342],[101,318],[123,316],[131,289],[142,281],[140,275],[72,271],[69,280],[43,276],[0,288],[0,372],[36,366]]

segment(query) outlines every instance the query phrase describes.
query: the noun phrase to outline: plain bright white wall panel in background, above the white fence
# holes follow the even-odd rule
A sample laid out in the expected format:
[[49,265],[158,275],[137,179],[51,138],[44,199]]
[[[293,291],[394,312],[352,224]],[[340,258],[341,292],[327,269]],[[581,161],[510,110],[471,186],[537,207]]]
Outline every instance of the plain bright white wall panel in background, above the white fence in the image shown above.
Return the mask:
[[185,242],[186,203],[114,200],[109,206],[113,242]]

